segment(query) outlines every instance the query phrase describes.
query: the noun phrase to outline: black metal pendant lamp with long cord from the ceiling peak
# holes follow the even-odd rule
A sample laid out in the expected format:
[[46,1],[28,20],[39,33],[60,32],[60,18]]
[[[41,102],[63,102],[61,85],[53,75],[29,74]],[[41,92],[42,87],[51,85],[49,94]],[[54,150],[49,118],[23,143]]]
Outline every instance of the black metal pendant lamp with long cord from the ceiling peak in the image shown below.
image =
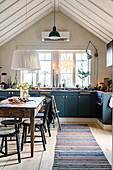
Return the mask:
[[51,31],[49,33],[49,38],[51,38],[51,39],[59,39],[60,38],[60,34],[59,34],[59,32],[56,31],[56,27],[55,27],[55,0],[54,0],[54,26],[53,26],[53,31]]

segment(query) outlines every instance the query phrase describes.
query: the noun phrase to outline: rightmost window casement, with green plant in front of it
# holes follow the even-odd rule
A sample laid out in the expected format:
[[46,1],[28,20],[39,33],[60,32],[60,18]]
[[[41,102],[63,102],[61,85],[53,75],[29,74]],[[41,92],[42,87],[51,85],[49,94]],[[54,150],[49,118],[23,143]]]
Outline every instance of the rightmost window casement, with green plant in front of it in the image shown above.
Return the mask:
[[76,53],[75,57],[75,84],[87,87],[90,84],[90,61],[86,53]]

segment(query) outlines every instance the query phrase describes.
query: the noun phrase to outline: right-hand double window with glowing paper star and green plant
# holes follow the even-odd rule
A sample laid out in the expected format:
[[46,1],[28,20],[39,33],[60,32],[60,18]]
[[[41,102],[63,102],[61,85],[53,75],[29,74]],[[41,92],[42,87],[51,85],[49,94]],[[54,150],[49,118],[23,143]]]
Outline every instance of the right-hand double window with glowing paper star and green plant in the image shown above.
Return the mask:
[[[75,63],[75,64],[74,64]],[[90,84],[90,61],[83,52],[60,52],[60,82],[66,87],[88,87]]]

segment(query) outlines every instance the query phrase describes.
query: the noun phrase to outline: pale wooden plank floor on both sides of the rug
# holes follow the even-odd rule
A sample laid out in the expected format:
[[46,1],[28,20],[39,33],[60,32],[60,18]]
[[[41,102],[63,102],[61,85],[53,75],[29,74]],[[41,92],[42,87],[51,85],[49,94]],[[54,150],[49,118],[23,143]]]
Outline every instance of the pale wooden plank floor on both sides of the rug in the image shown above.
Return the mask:
[[[81,122],[82,123],[82,122]],[[85,123],[86,124],[86,123]],[[87,123],[97,140],[98,144],[102,148],[108,161],[112,162],[112,132],[103,130],[97,123]],[[22,131],[22,129],[21,129]],[[47,144],[46,151],[43,151],[42,143],[35,143],[34,157],[30,157],[30,144],[24,145],[24,149],[21,152],[21,163],[18,163],[17,155],[0,158],[0,170],[51,170],[54,160],[54,148],[57,135],[57,127],[51,128],[52,136],[49,137],[46,134]],[[20,138],[21,138],[20,133]],[[39,138],[38,138],[39,139]],[[15,147],[15,141],[9,142],[9,150],[13,151]]]

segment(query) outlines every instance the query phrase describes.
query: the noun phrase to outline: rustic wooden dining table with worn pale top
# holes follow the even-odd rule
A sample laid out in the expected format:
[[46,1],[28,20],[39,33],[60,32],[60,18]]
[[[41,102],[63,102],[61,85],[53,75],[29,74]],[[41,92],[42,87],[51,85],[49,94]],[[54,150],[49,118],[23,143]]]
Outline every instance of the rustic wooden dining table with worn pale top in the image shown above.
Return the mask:
[[8,99],[0,102],[0,117],[30,118],[31,157],[34,155],[35,116],[43,106],[45,97],[29,97],[28,102],[9,103]]

